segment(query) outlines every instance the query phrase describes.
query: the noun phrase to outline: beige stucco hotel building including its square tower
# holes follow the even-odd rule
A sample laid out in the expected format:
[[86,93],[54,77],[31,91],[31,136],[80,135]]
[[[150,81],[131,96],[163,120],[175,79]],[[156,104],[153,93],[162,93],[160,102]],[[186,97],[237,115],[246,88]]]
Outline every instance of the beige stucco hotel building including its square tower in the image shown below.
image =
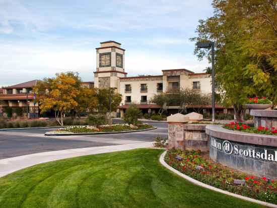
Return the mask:
[[121,43],[105,41],[96,48],[96,88],[116,88],[122,94],[119,106],[120,116],[131,103],[135,103],[144,113],[157,111],[160,107],[151,102],[153,95],[160,92],[173,92],[181,88],[192,88],[203,93],[212,93],[211,76],[207,73],[194,73],[187,69],[161,70],[158,76],[127,77],[125,72],[125,49]]

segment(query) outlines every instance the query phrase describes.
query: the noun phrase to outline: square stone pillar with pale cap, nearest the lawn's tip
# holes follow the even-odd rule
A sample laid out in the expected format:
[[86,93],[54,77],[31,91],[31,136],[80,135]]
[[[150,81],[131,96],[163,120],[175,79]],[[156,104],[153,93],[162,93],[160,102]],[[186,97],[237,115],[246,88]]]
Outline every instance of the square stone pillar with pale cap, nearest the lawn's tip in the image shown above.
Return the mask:
[[184,124],[188,121],[189,117],[179,113],[167,117],[169,148],[184,150]]

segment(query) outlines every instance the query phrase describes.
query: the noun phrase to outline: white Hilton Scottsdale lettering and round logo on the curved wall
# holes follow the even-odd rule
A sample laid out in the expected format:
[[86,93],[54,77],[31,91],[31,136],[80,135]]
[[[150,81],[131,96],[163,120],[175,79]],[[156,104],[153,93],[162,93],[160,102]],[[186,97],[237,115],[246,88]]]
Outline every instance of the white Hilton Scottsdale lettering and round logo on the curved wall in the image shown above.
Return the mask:
[[[240,149],[237,144],[233,145],[230,141],[224,140],[223,142],[218,141],[214,137],[211,138],[211,146],[222,150],[225,154],[240,154],[244,157],[257,158],[267,161],[277,162],[277,151],[276,150],[267,150],[263,149],[261,152],[254,149]],[[273,154],[269,154],[268,151],[271,151]]]

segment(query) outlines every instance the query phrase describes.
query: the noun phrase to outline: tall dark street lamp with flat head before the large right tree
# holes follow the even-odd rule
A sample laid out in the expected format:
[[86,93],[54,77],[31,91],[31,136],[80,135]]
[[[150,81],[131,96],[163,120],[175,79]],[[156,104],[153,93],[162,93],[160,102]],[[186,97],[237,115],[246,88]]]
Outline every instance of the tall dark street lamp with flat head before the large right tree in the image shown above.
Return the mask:
[[198,48],[212,48],[212,121],[215,122],[216,100],[215,100],[215,42],[197,42]]

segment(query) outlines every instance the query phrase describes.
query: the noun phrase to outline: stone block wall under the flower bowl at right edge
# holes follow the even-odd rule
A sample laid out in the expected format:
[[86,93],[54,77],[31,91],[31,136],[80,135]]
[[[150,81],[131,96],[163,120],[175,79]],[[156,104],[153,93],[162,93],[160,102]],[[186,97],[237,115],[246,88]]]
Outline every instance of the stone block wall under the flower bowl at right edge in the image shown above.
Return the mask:
[[254,126],[277,129],[277,111],[276,110],[251,110],[250,115],[254,116]]

